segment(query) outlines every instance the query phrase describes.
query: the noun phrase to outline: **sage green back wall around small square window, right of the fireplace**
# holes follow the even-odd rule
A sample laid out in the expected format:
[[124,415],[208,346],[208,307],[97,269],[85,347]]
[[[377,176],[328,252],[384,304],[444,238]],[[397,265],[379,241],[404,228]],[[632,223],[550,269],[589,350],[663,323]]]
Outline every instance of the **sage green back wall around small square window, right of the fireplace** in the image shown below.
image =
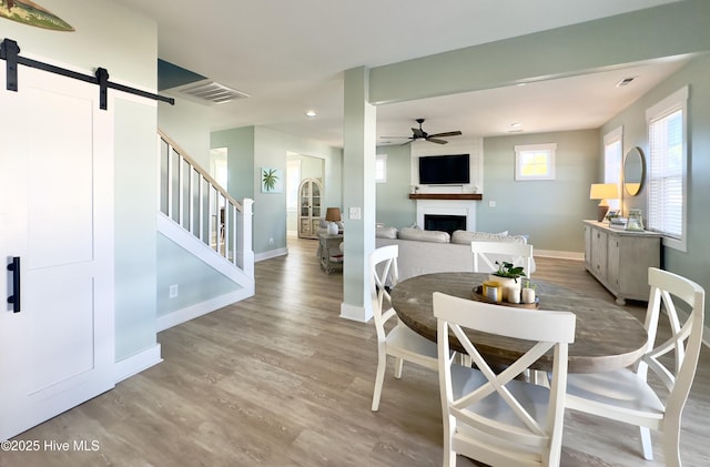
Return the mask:
[[[515,146],[539,143],[557,144],[555,180],[515,181]],[[589,185],[599,180],[598,158],[597,130],[484,139],[485,190],[476,230],[528,234],[536,250],[584,253],[581,220],[597,215]]]

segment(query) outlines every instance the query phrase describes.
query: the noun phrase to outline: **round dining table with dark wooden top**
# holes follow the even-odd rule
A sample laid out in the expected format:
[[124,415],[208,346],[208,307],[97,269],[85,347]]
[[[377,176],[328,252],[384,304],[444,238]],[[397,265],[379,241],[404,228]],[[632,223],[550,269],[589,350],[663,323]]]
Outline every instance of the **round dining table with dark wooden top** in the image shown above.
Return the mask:
[[[432,294],[442,292],[473,300],[475,287],[488,278],[484,273],[435,273],[402,281],[390,292],[392,306],[404,324],[436,342],[436,318]],[[642,354],[648,334],[643,324],[626,309],[559,285],[531,280],[536,284],[539,309],[572,312],[576,319],[575,343],[569,345],[569,373],[597,373],[633,364]],[[500,305],[506,306],[506,305]],[[467,329],[466,334],[490,362],[510,364],[532,343]],[[450,336],[450,346],[464,352]],[[552,351],[541,357],[534,369],[551,370]]]

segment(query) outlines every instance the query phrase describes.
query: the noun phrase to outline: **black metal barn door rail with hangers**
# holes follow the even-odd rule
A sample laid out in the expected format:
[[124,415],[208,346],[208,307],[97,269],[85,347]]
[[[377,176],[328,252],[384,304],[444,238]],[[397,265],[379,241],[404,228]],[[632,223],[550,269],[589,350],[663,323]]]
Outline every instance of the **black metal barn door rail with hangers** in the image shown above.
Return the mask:
[[101,110],[108,109],[106,94],[109,88],[115,89],[116,91],[140,95],[142,98],[153,99],[155,101],[168,102],[171,105],[175,104],[175,100],[173,98],[165,98],[164,95],[141,91],[140,89],[131,88],[128,85],[112,83],[111,81],[109,81],[109,71],[105,68],[98,68],[95,75],[92,77],[90,74],[78,73],[75,71],[67,70],[65,68],[54,67],[53,64],[28,59],[26,57],[20,57],[20,47],[16,41],[11,39],[6,38],[2,41],[2,44],[0,44],[0,59],[6,61],[8,91],[18,91],[18,64],[23,64],[26,67],[49,71],[50,73],[61,74],[62,77],[73,78],[74,80],[98,84],[99,106],[101,108]]

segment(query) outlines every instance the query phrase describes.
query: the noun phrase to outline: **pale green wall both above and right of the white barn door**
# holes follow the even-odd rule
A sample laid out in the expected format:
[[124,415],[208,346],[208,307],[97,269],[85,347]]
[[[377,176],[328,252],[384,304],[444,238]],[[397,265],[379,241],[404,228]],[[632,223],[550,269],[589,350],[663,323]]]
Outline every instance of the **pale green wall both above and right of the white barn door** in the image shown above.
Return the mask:
[[[48,31],[0,19],[2,37],[20,54],[145,90],[158,84],[158,28],[153,20],[109,0],[42,0],[74,32]],[[110,18],[102,21],[101,18]],[[126,31],[131,31],[126,34]],[[4,91],[3,91],[4,92]],[[22,81],[20,80],[20,91]],[[99,90],[97,89],[97,92]],[[156,106],[122,93],[114,112],[114,273],[116,362],[155,346]]]

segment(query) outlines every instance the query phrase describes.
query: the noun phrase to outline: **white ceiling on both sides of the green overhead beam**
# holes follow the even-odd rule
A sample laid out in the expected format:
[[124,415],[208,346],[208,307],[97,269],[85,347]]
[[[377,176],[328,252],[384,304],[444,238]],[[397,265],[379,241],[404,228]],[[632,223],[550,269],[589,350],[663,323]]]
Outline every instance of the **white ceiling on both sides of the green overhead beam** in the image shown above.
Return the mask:
[[[158,23],[159,57],[248,99],[211,108],[211,129],[262,125],[343,145],[343,71],[378,67],[678,0],[113,0]],[[682,65],[382,105],[378,142],[424,130],[464,136],[598,128]],[[616,83],[637,77],[623,88]],[[314,119],[304,112],[313,109]],[[584,109],[584,112],[580,111]]]

